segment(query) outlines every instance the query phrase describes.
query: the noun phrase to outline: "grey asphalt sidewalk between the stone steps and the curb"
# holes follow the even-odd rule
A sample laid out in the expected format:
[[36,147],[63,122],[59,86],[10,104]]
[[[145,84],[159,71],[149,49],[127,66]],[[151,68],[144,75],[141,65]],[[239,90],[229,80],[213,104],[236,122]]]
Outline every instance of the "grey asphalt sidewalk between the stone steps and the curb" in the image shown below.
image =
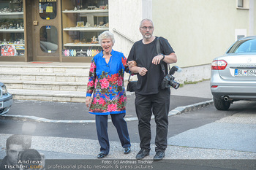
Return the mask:
[[[207,100],[211,98],[171,95],[170,110]],[[126,117],[136,117],[134,101],[134,93],[127,96]],[[14,100],[7,115],[27,115],[50,120],[94,120],[94,115],[89,114],[85,103],[71,102]]]

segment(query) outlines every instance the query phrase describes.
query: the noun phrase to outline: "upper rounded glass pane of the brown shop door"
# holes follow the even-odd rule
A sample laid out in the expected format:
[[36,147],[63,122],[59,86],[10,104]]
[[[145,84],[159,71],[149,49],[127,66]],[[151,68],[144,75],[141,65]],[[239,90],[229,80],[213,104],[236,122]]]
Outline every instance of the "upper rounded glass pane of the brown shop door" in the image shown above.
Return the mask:
[[57,2],[52,0],[45,2],[45,0],[39,0],[39,15],[44,20],[52,20],[57,15]]

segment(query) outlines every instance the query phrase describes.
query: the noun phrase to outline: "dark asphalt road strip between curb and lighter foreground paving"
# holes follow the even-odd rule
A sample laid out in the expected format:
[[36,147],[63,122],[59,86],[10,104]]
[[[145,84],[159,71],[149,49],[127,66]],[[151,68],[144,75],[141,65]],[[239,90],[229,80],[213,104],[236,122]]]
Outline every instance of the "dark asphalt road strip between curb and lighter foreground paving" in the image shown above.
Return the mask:
[[[29,105],[29,107],[32,106]],[[208,109],[211,109],[211,112],[215,111],[213,107],[209,107]],[[208,114],[206,112],[189,112],[169,117],[170,125],[168,137],[175,136],[176,134],[180,134],[181,132],[187,131],[191,128],[197,128],[201,125],[214,122],[230,114],[230,112],[215,112],[212,114]],[[94,116],[92,116],[91,118],[93,119]],[[26,125],[26,123],[28,122],[23,122],[19,120],[0,120],[0,134],[27,134],[28,132],[23,131],[23,125]],[[127,123],[129,128],[129,135],[131,137],[132,142],[139,142],[137,128],[138,120],[127,121]],[[96,128],[94,123],[32,122],[31,124],[33,124],[35,127],[34,132],[32,132],[31,134],[34,136],[59,136],[80,139],[97,139]],[[154,133],[154,119],[151,120],[151,124],[153,130],[152,133]],[[110,140],[118,141],[118,136],[116,136],[116,128],[114,128],[112,123],[108,123],[108,131],[110,132]]]

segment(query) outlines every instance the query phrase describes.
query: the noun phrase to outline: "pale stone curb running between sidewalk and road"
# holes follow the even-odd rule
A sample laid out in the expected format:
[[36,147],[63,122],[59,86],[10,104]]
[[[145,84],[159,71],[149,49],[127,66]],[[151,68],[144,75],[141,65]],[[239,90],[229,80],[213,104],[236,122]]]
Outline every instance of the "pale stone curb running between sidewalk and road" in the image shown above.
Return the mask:
[[[214,104],[213,99],[209,101],[203,101],[197,104],[190,104],[184,107],[176,107],[175,109],[169,112],[168,116],[177,115],[184,112],[191,112],[195,109],[202,109],[203,107],[208,107],[211,104]],[[151,119],[154,119],[154,115],[151,117]],[[26,116],[26,115],[2,115],[0,116],[0,120],[23,120],[23,121],[35,121],[40,123],[95,123],[95,120],[50,120],[42,117]],[[138,118],[129,117],[129,118],[124,118],[124,120],[129,122],[129,121],[138,120]],[[108,120],[108,122],[111,122],[111,120]]]

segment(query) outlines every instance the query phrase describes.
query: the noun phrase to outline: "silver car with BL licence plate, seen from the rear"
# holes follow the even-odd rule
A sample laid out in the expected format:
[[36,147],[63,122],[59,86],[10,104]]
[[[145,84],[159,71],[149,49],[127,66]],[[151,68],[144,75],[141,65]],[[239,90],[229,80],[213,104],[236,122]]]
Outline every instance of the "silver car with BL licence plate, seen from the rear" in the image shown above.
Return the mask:
[[214,106],[227,110],[233,101],[256,100],[256,36],[238,39],[211,63]]

